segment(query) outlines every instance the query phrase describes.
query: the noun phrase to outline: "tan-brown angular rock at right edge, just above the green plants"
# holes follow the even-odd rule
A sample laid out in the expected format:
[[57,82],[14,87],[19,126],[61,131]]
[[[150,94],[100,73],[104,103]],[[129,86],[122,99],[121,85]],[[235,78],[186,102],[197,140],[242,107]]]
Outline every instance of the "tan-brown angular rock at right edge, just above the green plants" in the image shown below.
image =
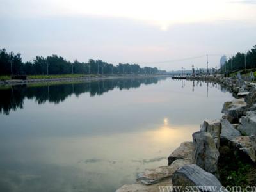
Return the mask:
[[232,146],[237,148],[239,152],[248,157],[248,159],[256,162],[255,156],[255,136],[239,136],[234,138],[232,141]]

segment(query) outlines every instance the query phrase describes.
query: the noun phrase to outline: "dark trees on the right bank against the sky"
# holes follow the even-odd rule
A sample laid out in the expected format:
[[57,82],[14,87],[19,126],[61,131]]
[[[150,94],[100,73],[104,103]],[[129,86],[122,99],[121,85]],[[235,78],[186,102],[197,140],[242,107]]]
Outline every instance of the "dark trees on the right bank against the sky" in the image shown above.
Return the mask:
[[222,72],[256,68],[256,45],[246,53],[237,52],[221,66]]

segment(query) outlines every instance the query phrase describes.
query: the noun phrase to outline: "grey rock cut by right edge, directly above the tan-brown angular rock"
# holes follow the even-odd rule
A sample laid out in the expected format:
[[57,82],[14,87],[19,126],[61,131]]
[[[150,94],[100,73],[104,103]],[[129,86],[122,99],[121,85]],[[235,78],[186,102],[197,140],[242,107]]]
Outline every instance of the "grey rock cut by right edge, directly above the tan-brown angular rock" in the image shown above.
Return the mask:
[[245,135],[256,134],[256,111],[248,111],[246,116],[242,116],[241,125],[237,129]]

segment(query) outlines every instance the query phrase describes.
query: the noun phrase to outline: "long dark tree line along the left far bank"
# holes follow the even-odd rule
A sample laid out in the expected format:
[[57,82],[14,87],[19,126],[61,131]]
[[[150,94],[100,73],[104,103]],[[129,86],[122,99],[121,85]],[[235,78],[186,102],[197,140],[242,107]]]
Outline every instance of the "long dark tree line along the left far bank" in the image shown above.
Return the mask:
[[[22,62],[21,54],[0,49],[0,75],[49,75],[49,74],[156,74],[156,67],[140,67],[138,64],[113,65],[102,60],[90,59],[87,63],[70,62],[61,56],[36,56]],[[163,72],[163,71],[162,71]]]

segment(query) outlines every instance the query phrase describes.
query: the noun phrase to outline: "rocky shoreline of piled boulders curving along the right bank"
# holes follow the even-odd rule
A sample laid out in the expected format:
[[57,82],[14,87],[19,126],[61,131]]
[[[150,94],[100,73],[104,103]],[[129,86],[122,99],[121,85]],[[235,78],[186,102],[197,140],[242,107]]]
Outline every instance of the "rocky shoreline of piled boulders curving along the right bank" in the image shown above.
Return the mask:
[[220,119],[204,120],[200,130],[193,133],[193,141],[181,143],[170,154],[168,165],[139,173],[136,183],[125,184],[116,192],[170,191],[172,186],[216,186],[217,191],[221,186],[255,185],[255,85],[223,76],[194,76],[189,80],[219,83],[236,99],[223,104]]

